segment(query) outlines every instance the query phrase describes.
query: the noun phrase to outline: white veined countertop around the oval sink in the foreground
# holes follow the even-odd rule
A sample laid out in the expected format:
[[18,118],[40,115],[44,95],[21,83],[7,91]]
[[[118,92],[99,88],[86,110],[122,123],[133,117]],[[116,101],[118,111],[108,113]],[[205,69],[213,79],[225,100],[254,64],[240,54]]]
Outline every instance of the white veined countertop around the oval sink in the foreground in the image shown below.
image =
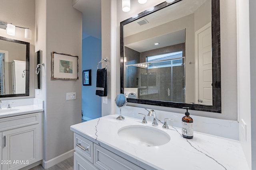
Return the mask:
[[153,127],[152,122],[142,124],[140,119],[125,117],[117,121],[118,115],[108,115],[76,125],[70,129],[75,133],[105,147],[142,168],[151,166],[158,170],[249,170],[239,141],[194,132],[193,139],[185,139],[181,129],[169,125],[157,129],[168,133],[171,140],[157,147],[142,147],[118,136],[118,129],[127,125]]

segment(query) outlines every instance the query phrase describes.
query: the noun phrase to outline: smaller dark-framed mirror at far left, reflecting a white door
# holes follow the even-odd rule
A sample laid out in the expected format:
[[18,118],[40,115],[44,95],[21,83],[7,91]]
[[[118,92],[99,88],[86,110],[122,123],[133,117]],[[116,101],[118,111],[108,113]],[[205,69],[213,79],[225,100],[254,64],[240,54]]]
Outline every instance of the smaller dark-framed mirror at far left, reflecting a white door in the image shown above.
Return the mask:
[[0,37],[0,98],[29,96],[29,47]]

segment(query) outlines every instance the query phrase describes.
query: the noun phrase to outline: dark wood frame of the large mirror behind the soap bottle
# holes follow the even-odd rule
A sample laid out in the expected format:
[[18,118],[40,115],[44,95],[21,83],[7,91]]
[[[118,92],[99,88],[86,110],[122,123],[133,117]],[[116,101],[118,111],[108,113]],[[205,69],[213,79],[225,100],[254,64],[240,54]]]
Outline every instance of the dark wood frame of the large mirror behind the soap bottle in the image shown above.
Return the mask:
[[[120,22],[120,93],[124,94],[124,25],[180,1],[176,0],[172,3],[163,2],[155,6],[151,12],[144,11],[138,14],[137,18],[128,18]],[[176,108],[190,107],[192,110],[221,113],[220,0],[212,0],[212,106],[133,98],[127,98],[127,102]]]

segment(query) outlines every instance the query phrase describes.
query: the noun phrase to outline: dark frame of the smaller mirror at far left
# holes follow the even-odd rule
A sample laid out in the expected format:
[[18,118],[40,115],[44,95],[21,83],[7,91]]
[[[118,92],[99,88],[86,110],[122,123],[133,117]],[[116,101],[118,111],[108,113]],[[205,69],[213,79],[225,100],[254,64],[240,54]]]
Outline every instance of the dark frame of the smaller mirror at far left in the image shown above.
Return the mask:
[[5,41],[10,41],[10,42],[14,42],[14,43],[20,43],[20,44],[24,44],[26,45],[26,74],[28,74],[28,76],[26,76],[26,93],[24,94],[4,94],[4,95],[0,95],[0,98],[10,98],[10,97],[20,97],[20,96],[29,96],[29,49],[30,49],[30,43],[25,42],[25,41],[19,41],[16,39],[10,39],[10,38],[6,38],[6,37],[0,37],[1,40],[5,40]]

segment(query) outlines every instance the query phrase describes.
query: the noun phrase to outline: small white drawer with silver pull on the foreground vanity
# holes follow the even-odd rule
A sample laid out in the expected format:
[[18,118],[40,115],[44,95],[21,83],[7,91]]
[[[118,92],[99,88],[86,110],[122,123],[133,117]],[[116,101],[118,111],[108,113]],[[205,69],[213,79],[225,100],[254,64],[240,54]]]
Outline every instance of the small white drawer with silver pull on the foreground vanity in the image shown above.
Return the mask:
[[93,143],[74,133],[74,150],[93,163]]

